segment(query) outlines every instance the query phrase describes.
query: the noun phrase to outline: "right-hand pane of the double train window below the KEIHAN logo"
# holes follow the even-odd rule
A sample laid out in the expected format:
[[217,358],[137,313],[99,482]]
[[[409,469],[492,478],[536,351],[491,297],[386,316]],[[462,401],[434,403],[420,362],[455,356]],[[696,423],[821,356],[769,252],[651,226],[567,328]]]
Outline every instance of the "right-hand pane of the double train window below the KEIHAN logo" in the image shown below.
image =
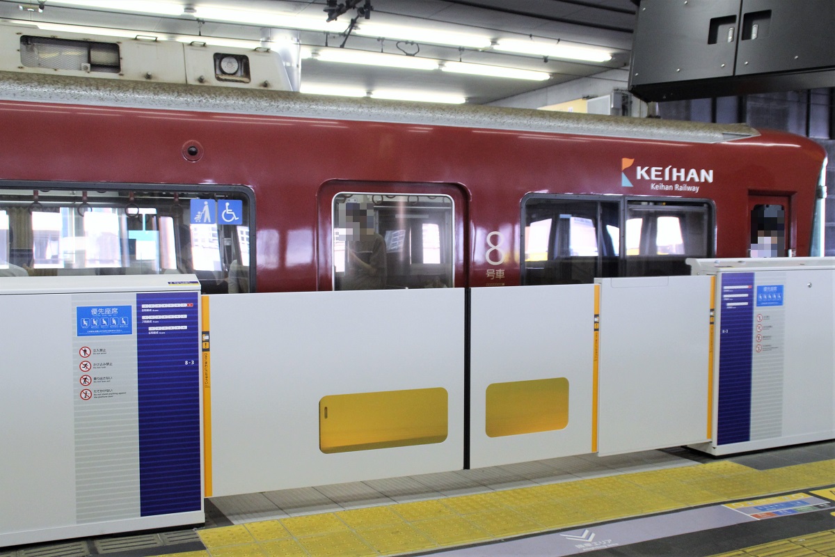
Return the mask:
[[686,275],[687,257],[711,256],[706,203],[627,200],[626,276]]

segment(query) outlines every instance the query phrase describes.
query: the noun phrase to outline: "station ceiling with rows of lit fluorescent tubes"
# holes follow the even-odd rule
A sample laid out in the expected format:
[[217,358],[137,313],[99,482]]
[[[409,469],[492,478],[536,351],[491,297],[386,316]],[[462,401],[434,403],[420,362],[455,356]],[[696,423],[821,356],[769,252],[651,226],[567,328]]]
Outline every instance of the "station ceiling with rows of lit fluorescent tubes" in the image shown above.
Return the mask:
[[[312,27],[316,22],[324,24],[327,0],[0,0],[0,18],[172,37],[202,35],[251,41],[289,37],[297,39],[302,47],[302,90],[314,85],[371,93],[407,90],[448,94],[465,98],[468,103],[484,104],[592,77],[611,68],[625,68],[636,10],[632,0],[338,0],[335,4],[337,8],[339,4],[356,4],[356,8],[338,15],[331,30],[291,27],[294,21],[312,21]],[[369,4],[370,17],[364,18],[357,8]],[[356,27],[346,38],[344,28],[353,18],[357,18]],[[403,28],[417,29],[417,38],[398,40],[391,28],[371,31],[370,23],[395,26],[397,33]],[[438,33],[442,32],[462,33],[467,38],[486,39],[486,43],[461,46],[455,38],[443,38],[448,43],[441,44]],[[544,48],[559,44],[560,48],[579,47],[580,52],[590,49],[608,54],[610,59],[569,59],[559,51],[544,55],[499,50],[513,39]],[[362,55],[358,51],[389,53],[392,57],[425,58],[438,65],[428,69],[391,68],[333,62],[321,54],[323,49],[330,53],[343,44],[355,56]],[[531,80],[453,73],[448,71],[454,67],[453,62],[478,64],[458,68],[518,68],[546,74],[539,76],[544,79]]]

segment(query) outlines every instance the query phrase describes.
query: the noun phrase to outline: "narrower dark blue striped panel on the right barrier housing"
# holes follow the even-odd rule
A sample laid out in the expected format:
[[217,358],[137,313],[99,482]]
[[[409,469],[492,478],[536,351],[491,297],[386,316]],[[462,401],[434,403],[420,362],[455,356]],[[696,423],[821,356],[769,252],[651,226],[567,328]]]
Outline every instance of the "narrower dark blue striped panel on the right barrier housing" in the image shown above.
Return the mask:
[[751,438],[751,347],[754,273],[722,273],[718,445]]

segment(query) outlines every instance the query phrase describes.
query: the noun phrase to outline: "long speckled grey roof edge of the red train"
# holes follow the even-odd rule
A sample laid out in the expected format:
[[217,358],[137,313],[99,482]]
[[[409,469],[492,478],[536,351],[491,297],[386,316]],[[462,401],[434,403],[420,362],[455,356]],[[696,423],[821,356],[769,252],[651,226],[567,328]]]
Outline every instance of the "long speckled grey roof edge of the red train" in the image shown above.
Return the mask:
[[677,120],[573,114],[484,105],[447,105],[347,99],[261,89],[225,89],[38,73],[0,72],[0,99],[175,109],[220,114],[253,114],[507,129],[526,132],[720,143],[757,136],[746,124],[704,124]]

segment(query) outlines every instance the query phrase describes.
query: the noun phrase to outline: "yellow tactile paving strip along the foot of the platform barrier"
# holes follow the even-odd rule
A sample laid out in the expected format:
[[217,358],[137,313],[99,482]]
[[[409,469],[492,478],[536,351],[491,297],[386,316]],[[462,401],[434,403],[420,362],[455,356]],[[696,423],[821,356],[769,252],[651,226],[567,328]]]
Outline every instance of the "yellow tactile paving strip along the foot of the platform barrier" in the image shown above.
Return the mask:
[[[787,471],[791,471],[792,473],[797,473],[797,479],[803,479],[806,481],[807,484],[808,482],[817,482],[818,480],[827,479],[827,481],[822,481],[822,485],[826,485],[831,483],[833,476],[832,474],[828,473],[827,470],[821,470],[819,468],[826,468],[827,466],[829,468],[835,469],[835,459],[819,461],[817,463],[795,464],[788,467],[773,469],[785,469]],[[630,497],[626,499],[619,499],[618,503],[615,504],[616,508],[605,509],[605,516],[600,516],[599,513],[596,516],[592,516],[595,510],[600,510],[597,509],[599,505],[596,505],[595,501],[592,501],[590,504],[585,505],[588,507],[588,509],[585,509],[584,506],[581,504],[581,501],[583,501],[584,499],[589,499],[589,497],[588,495],[580,494],[580,499],[574,501],[575,504],[580,504],[580,507],[576,510],[590,512],[591,514],[586,514],[583,516],[559,517],[552,524],[549,524],[547,526],[542,525],[541,527],[539,527],[539,529],[536,529],[536,531],[559,531],[561,529],[569,529],[583,525],[595,524],[598,522],[605,522],[609,520],[620,520],[632,518],[635,516],[644,516],[662,512],[673,512],[676,510],[701,506],[703,504],[722,504],[723,502],[734,500],[756,500],[757,498],[762,496],[792,491],[808,492],[811,488],[820,487],[809,485],[807,485],[806,487],[798,487],[797,481],[777,481],[774,482],[774,484],[771,484],[771,482],[769,482],[770,485],[767,489],[757,489],[757,487],[749,486],[745,494],[740,494],[740,492],[734,489],[733,485],[729,485],[728,487],[719,487],[720,484],[731,484],[734,481],[734,478],[741,478],[742,482],[745,482],[747,479],[750,483],[752,476],[757,477],[762,475],[764,477],[767,477],[767,474],[769,472],[771,472],[771,470],[757,470],[755,468],[750,468],[738,463],[732,463],[730,461],[718,461],[705,464],[693,464],[691,466],[684,466],[678,468],[659,468],[657,470],[649,470],[644,472],[615,474],[612,476],[594,479],[577,479],[570,482],[563,482],[557,484],[542,484],[524,488],[505,489],[501,491],[493,491],[483,494],[458,495],[451,498],[437,500],[437,503],[443,505],[443,507],[445,507],[448,512],[445,512],[443,514],[431,514],[431,516],[418,514],[415,516],[414,519],[407,519],[405,518],[406,515],[397,513],[398,507],[402,507],[404,505],[411,505],[413,507],[415,504],[426,504],[426,502],[380,505],[377,507],[370,507],[364,509],[350,509],[331,511],[321,514],[307,514],[286,519],[271,519],[245,524],[246,528],[251,530],[253,527],[257,528],[257,524],[264,524],[266,526],[269,525],[268,523],[275,523],[277,531],[282,532],[280,539],[258,539],[256,543],[253,543],[251,541],[244,541],[244,539],[232,535],[240,534],[240,531],[243,530],[243,525],[226,526],[214,529],[205,529],[201,531],[204,531],[206,533],[210,532],[211,534],[214,534],[208,536],[207,540],[209,538],[215,537],[219,539],[219,543],[213,543],[210,541],[209,544],[205,544],[204,541],[204,544],[207,548],[207,552],[211,557],[221,557],[221,555],[225,557],[227,555],[233,554],[240,554],[242,556],[250,554],[272,554],[271,552],[266,551],[266,549],[264,549],[266,547],[265,544],[276,544],[278,542],[283,543],[286,541],[289,542],[291,540],[295,540],[298,544],[301,544],[302,540],[306,540],[308,544],[317,544],[319,543],[319,540],[321,540],[322,543],[325,543],[327,540],[342,540],[342,543],[337,545],[344,545],[344,548],[342,548],[344,549],[344,551],[341,551],[338,547],[333,546],[333,544],[330,543],[329,545],[331,545],[331,547],[329,547],[328,549],[321,548],[322,550],[325,550],[328,557],[355,557],[357,555],[356,547],[358,543],[368,544],[371,547],[372,551],[376,552],[370,553],[372,555],[409,554],[415,551],[426,550],[431,548],[428,548],[426,546],[426,541],[425,539],[423,539],[422,536],[407,536],[414,537],[415,539],[419,539],[422,541],[421,544],[418,544],[419,547],[415,546],[413,548],[407,548],[405,547],[406,542],[395,543],[396,540],[392,541],[391,539],[383,539],[385,538],[385,536],[380,534],[378,534],[377,537],[383,539],[381,542],[383,546],[376,547],[368,539],[363,538],[362,533],[363,531],[368,531],[372,529],[384,529],[397,526],[400,526],[403,529],[408,530],[411,528],[419,527],[424,524],[443,521],[443,519],[452,519],[453,521],[458,521],[458,523],[468,525],[469,529],[473,532],[483,532],[483,535],[479,538],[480,541],[514,538],[525,534],[531,534],[532,531],[529,528],[529,523],[532,519],[536,520],[536,516],[530,517],[524,514],[523,507],[519,507],[519,502],[514,503],[514,499],[530,498],[532,499],[530,504],[535,504],[533,501],[533,499],[535,498],[532,496],[536,492],[544,492],[544,499],[542,500],[545,501],[545,504],[548,504],[548,498],[552,498],[550,499],[550,502],[555,503],[559,506],[559,501],[568,504],[572,502],[572,499],[577,499],[576,495],[572,496],[569,495],[569,493],[572,493],[574,491],[573,488],[578,488],[581,486],[585,486],[585,489],[593,488],[592,491],[587,491],[587,494],[591,495],[593,499],[597,498],[600,500],[607,499],[605,494],[602,491],[600,491],[600,489],[626,489],[628,491],[641,489],[647,495],[646,505],[643,505],[641,509],[636,509],[635,501],[642,500],[642,498],[640,498],[639,496],[638,499],[635,499],[635,494],[633,493]],[[660,484],[655,484],[655,489],[652,489],[649,487],[649,484],[644,484],[643,481],[639,480],[641,474],[644,474],[644,479],[660,479],[658,478],[659,475],[669,476],[669,479],[661,481]],[[695,482],[695,487],[698,487],[701,485],[701,480],[710,479],[714,480],[715,483],[717,481],[719,482],[719,484],[716,484],[716,486],[711,491],[713,497],[711,497],[710,501],[705,500],[701,503],[677,503],[670,505],[669,501],[656,500],[654,504],[653,498],[657,499],[660,496],[657,489],[672,489],[675,491],[676,485],[672,485],[671,483],[677,484],[678,489],[689,489],[688,486],[690,486],[692,482]],[[554,497],[560,497],[559,494],[553,493],[554,491],[559,490],[564,490],[566,492],[565,497],[559,500],[553,499]],[[468,502],[469,504],[463,504],[465,502]],[[585,503],[589,502],[585,501]],[[479,507],[479,509],[481,510],[475,509],[473,505]],[[471,509],[470,507],[473,508]],[[391,524],[391,517],[389,516],[389,514],[391,513],[387,513],[386,509],[393,511],[393,514],[402,519],[402,522],[399,524]],[[381,514],[382,520],[385,522],[385,524],[383,524],[382,522],[380,524],[375,524],[373,520],[368,520],[372,517],[366,515],[375,513]],[[357,514],[357,518],[359,518],[359,514],[362,514],[362,518],[365,518],[367,520],[353,521],[350,517],[345,516],[346,514]],[[490,515],[494,515],[493,519],[490,518]],[[513,520],[514,518],[516,520]],[[286,531],[284,530],[284,528],[286,527],[285,522],[289,521],[293,522],[294,527],[292,529],[296,529],[296,534],[290,532],[290,528],[287,528]],[[353,522],[356,522],[357,524],[349,524]],[[518,531],[513,530],[512,528],[505,528],[504,526],[501,528],[502,531],[500,533],[490,532],[483,529],[492,529],[491,527],[494,528],[496,527],[496,524],[499,523],[503,523],[506,526],[509,522],[519,523],[517,528]],[[298,526],[303,525],[301,523],[306,524],[306,527],[298,528]],[[483,528],[478,527],[478,524],[476,523],[482,524]],[[539,523],[544,524],[542,520],[540,520]],[[432,538],[431,535],[426,534],[425,532],[424,534],[425,536],[428,536],[429,539]],[[451,530],[447,532],[447,534],[448,539],[450,539],[450,541],[448,542],[443,542],[438,539],[434,540],[434,543],[437,544],[437,549],[447,549],[452,547],[464,546],[471,544],[473,543],[473,541],[475,541],[474,539],[471,541],[462,539],[460,535],[462,534],[461,532],[458,532],[458,534],[453,535],[455,534],[455,532]],[[244,538],[246,537],[248,536],[244,536]],[[455,538],[456,541],[452,541],[453,538]],[[467,538],[467,536],[464,536],[464,538]],[[228,540],[220,541],[220,539]],[[394,547],[397,547],[397,549],[392,551]],[[299,549],[301,549],[301,545],[299,545]],[[740,554],[748,555],[746,553],[743,553],[744,551],[744,549],[739,550]],[[736,554],[736,552],[731,553]],[[301,552],[298,554],[300,555],[300,557],[306,557],[306,553],[304,553],[303,550],[301,550]],[[320,554],[320,552],[316,551],[316,555],[318,554]],[[160,557],[180,557],[180,555],[181,554],[168,554],[160,555]]]

